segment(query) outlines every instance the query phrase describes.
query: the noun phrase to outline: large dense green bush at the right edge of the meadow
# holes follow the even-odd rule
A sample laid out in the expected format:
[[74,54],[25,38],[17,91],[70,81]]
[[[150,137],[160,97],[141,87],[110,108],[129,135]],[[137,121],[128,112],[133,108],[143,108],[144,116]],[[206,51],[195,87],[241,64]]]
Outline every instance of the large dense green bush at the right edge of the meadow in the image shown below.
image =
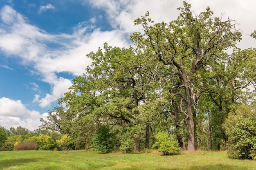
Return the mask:
[[[244,109],[243,109],[244,108]],[[243,110],[242,113],[239,111]],[[240,106],[236,113],[231,115],[236,117],[235,123],[228,122],[232,129],[227,130],[229,133],[228,157],[233,159],[256,159],[256,112],[255,108],[250,106]]]

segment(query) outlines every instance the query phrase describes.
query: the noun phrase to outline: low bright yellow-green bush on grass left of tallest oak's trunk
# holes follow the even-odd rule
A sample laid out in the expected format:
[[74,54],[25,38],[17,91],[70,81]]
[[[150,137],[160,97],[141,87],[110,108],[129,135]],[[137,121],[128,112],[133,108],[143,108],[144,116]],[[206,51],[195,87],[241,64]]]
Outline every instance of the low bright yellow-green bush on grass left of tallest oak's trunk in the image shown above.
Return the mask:
[[162,152],[164,155],[174,155],[180,153],[182,148],[180,148],[177,141],[164,141],[160,144],[158,151]]

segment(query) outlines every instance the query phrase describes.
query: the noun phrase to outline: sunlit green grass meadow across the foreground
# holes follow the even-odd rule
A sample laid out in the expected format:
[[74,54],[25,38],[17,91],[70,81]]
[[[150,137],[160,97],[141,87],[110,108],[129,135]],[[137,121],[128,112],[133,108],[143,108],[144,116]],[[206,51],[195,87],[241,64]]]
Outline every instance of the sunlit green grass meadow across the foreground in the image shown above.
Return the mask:
[[256,170],[254,160],[234,160],[226,152],[122,154],[85,151],[1,151],[1,170]]

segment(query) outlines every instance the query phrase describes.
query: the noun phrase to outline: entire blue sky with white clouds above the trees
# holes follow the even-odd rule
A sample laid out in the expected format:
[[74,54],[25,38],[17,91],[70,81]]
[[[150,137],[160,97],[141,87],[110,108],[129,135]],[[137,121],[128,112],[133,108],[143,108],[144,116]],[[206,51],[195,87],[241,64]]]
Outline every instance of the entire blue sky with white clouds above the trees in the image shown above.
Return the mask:
[[[207,6],[213,16],[235,20],[241,49],[256,47],[255,0],[186,0],[195,14]],[[149,11],[171,22],[182,0],[0,0],[0,126],[33,131],[58,106],[57,100],[83,75],[86,54],[103,47],[128,47],[133,21]]]

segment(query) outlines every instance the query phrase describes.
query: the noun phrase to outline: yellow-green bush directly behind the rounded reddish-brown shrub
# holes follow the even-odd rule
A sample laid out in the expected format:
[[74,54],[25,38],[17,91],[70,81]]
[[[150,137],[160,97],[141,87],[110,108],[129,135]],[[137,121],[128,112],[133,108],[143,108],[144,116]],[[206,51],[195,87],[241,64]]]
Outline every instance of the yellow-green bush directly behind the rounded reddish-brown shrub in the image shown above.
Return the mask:
[[52,150],[54,140],[48,135],[29,137],[26,141],[35,141],[38,144],[38,150]]

